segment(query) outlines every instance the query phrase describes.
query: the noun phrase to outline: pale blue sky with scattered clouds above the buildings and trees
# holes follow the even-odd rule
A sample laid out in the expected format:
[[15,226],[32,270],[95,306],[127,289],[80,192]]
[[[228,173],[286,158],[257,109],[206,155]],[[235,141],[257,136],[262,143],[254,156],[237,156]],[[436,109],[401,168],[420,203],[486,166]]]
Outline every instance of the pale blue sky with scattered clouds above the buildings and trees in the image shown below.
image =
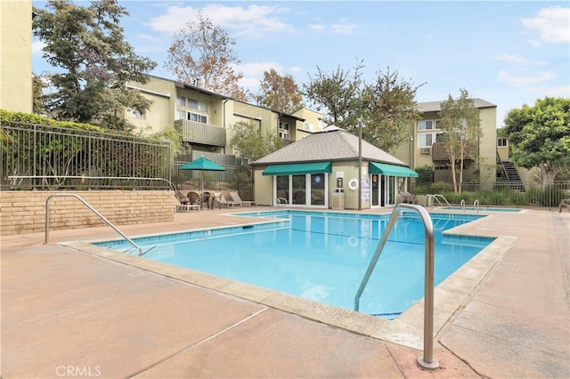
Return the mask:
[[[76,4],[87,6],[85,1]],[[33,1],[45,7],[45,1]],[[497,127],[510,109],[545,96],[570,97],[570,6],[567,1],[120,1],[120,21],[134,51],[165,68],[173,34],[198,12],[235,40],[240,85],[258,92],[275,69],[302,86],[318,69],[379,73],[420,85],[416,101],[470,96],[497,105]],[[54,71],[35,37],[32,69]],[[309,108],[310,104],[307,104]]]

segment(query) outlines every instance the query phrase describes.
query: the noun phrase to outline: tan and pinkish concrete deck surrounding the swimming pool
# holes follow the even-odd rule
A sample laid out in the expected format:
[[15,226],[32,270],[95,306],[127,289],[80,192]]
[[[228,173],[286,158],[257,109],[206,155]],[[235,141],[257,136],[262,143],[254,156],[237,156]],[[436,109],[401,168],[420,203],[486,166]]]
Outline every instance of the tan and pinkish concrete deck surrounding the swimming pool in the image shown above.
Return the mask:
[[[120,229],[259,222],[224,216],[247,210]],[[435,371],[416,364],[420,306],[375,319],[77,244],[110,228],[3,237],[2,377],[570,377],[570,213],[488,214],[457,231],[500,243],[436,288]]]

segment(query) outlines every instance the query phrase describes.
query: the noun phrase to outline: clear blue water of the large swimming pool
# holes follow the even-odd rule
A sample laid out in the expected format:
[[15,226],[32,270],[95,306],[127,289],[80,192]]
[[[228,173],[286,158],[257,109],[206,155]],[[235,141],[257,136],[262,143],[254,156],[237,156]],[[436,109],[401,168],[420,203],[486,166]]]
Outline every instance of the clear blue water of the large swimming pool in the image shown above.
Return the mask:
[[[267,224],[137,238],[144,257],[346,309],[387,225],[389,215],[280,211]],[[444,230],[483,217],[431,214],[436,230],[437,285],[493,238],[446,237]],[[269,220],[268,220],[269,222]],[[417,214],[404,213],[388,238],[360,300],[360,311],[393,318],[424,294],[425,236]],[[127,250],[126,241],[98,246]]]

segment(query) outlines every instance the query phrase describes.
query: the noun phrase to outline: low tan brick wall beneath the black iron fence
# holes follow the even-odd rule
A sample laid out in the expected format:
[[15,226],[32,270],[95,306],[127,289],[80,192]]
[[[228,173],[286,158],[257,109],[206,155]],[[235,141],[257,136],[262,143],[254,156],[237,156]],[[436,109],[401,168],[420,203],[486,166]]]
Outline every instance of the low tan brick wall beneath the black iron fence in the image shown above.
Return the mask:
[[[2,191],[0,235],[45,232],[45,200],[55,193],[72,192]],[[172,191],[90,190],[73,193],[77,193],[116,226],[174,220]],[[106,225],[77,198],[50,200],[50,230]]]

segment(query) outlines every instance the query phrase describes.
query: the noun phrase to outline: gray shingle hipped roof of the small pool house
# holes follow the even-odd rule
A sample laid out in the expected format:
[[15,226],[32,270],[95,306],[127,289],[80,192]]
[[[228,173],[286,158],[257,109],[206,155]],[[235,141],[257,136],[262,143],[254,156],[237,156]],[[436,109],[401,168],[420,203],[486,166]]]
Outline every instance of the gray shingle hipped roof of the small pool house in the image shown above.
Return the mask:
[[[257,159],[252,165],[273,165],[301,162],[341,161],[358,159],[358,137],[337,129],[330,132],[314,133],[303,140],[291,143],[282,149]],[[362,141],[362,159],[387,163],[390,165],[408,165],[392,157],[386,151],[378,149],[367,141]]]

